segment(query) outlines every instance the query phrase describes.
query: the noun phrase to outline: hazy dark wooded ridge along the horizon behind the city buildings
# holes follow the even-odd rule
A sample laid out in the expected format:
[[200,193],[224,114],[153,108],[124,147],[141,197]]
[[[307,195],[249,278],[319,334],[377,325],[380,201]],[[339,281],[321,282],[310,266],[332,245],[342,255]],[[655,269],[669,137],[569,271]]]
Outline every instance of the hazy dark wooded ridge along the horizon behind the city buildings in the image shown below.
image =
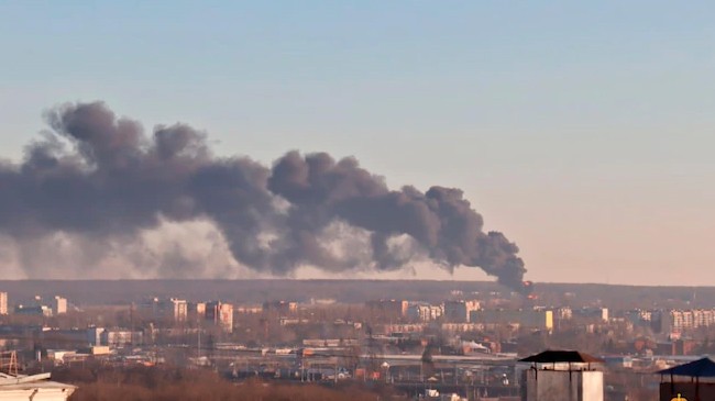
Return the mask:
[[[641,287],[592,283],[536,282],[538,303],[571,307],[602,304],[607,308],[715,305],[715,287]],[[453,291],[463,298],[480,292],[482,297],[497,291],[509,296],[510,290],[490,281],[432,280],[19,280],[0,281],[10,303],[40,294],[67,297],[74,304],[117,304],[140,302],[148,296],[179,297],[189,301],[220,299],[226,302],[262,303],[273,300],[306,302],[311,298],[330,298],[338,302],[360,303],[395,298],[442,301]],[[516,296],[515,296],[516,297]]]

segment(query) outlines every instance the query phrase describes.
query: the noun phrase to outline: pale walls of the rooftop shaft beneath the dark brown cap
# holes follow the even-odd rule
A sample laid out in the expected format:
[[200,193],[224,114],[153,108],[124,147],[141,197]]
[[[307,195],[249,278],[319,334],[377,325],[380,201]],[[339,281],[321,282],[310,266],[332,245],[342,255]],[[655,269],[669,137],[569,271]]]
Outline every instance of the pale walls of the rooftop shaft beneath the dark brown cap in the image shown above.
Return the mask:
[[602,371],[528,369],[524,375],[524,401],[603,401]]

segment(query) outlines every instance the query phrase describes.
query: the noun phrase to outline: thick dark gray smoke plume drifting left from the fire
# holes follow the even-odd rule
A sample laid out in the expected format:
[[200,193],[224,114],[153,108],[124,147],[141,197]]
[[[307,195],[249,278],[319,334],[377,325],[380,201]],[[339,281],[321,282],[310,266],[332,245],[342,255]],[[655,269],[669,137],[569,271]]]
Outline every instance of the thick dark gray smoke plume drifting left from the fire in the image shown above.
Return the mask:
[[[289,152],[272,167],[217,157],[200,131],[176,124],[146,135],[101,102],[65,104],[45,120],[50,129],[20,164],[0,164],[0,234],[18,243],[54,233],[117,243],[163,221],[209,220],[235,261],[288,275],[300,266],[402,269],[410,257],[391,244],[408,236],[447,269],[480,267],[522,288],[517,246],[485,233],[459,189],[391,190],[356,159],[324,153]],[[321,241],[337,223],[369,236],[367,255],[337,254]]]

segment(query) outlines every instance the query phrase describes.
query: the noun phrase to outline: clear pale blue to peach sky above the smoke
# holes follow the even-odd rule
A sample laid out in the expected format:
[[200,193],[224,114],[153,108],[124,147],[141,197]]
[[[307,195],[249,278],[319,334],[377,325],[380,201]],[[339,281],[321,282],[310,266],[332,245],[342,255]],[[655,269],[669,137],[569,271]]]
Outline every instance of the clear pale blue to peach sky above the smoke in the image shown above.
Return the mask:
[[324,151],[394,188],[461,188],[535,281],[713,286],[714,11],[0,1],[0,157],[22,157],[48,108],[102,100],[147,130],[204,130],[220,155]]

